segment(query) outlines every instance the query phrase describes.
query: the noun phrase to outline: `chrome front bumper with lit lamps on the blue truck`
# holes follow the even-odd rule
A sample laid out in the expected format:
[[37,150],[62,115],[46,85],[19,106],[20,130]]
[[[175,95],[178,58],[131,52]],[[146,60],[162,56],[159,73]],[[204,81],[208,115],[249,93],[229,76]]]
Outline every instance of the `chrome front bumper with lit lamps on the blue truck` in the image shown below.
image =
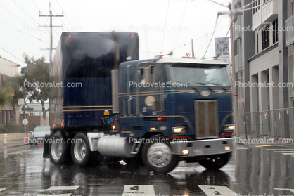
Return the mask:
[[174,141],[170,143],[174,155],[195,157],[219,155],[236,149],[235,138],[217,138],[197,141]]

